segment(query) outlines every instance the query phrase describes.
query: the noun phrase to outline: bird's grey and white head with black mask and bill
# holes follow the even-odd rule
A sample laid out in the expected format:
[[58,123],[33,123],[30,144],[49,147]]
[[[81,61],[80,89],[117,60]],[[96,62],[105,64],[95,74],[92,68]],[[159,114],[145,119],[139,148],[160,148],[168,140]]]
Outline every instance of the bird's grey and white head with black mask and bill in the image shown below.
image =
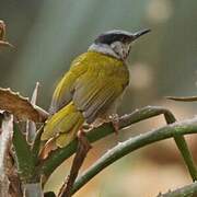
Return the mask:
[[150,30],[142,30],[137,33],[121,30],[108,31],[99,35],[94,43],[89,47],[89,50],[99,51],[117,59],[126,60],[131,48],[131,43],[149,32]]

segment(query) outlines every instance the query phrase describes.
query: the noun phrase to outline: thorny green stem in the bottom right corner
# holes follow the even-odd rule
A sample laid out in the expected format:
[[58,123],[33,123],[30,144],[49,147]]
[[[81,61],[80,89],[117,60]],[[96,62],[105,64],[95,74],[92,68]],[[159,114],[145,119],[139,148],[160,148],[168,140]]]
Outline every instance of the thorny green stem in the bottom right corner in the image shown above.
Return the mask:
[[173,192],[158,195],[158,197],[179,197],[179,196],[185,196],[185,197],[197,196],[197,183],[186,185],[186,186],[177,188]]

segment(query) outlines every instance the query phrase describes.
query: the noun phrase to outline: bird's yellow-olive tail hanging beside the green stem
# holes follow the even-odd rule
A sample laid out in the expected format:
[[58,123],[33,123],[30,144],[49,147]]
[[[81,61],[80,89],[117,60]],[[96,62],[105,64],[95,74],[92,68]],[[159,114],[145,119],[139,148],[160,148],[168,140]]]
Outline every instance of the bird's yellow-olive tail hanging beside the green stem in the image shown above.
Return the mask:
[[54,138],[58,147],[66,147],[76,138],[83,123],[84,118],[81,112],[70,102],[47,120],[42,140]]

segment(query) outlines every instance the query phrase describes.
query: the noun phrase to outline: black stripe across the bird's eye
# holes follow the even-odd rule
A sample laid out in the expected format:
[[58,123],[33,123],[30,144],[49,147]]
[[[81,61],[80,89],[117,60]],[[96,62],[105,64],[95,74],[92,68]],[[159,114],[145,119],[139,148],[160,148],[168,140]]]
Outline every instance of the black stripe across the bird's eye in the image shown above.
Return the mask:
[[114,42],[127,42],[130,37],[125,34],[103,34],[95,39],[95,44],[102,43],[111,45]]

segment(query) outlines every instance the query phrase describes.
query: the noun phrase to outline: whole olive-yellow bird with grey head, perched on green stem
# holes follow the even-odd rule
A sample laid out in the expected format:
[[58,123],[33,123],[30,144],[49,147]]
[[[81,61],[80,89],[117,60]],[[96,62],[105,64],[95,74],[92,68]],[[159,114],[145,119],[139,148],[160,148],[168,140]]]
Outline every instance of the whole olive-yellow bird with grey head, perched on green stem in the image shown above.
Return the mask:
[[43,141],[53,140],[63,148],[84,124],[94,126],[116,117],[118,103],[129,84],[127,58],[131,44],[149,32],[148,28],[136,33],[107,31],[71,62],[54,91]]

